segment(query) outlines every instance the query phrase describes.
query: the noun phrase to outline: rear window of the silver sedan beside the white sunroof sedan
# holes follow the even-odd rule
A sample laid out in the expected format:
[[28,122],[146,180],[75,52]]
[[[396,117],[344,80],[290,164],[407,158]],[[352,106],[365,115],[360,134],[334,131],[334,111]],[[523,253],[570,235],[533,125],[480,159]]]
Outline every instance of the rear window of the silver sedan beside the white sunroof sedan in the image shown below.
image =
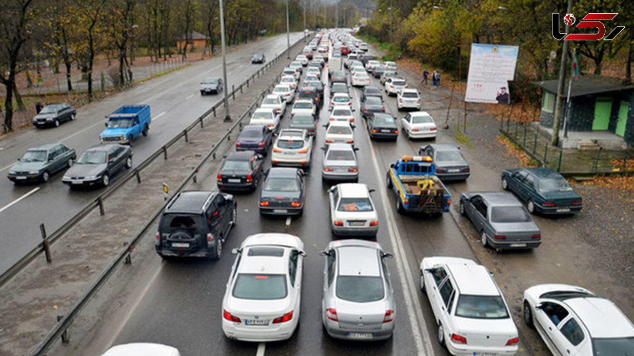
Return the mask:
[[337,298],[349,302],[376,302],[385,296],[381,277],[339,276],[336,288]]

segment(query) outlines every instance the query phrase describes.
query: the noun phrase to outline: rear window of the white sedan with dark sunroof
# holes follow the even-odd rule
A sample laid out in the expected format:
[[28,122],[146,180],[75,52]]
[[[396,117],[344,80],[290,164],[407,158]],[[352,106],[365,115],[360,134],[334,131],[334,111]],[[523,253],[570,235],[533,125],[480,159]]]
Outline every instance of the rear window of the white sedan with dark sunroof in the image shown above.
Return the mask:
[[253,300],[286,298],[286,276],[283,274],[240,273],[233,286],[233,296]]

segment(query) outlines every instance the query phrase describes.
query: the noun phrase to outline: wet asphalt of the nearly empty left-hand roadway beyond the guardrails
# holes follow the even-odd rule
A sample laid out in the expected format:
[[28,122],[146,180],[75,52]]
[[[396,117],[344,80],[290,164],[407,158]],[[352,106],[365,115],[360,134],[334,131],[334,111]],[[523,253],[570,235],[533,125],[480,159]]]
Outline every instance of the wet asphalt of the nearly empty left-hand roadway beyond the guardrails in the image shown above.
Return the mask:
[[[303,36],[291,34],[291,43]],[[286,35],[269,37],[230,50],[227,55],[226,89],[238,85],[262,65],[252,65],[253,53],[265,53],[269,60],[286,49]],[[211,60],[191,63],[178,73],[166,75],[134,87],[124,93],[77,110],[77,119],[51,129],[28,129],[7,135],[0,140],[0,175],[6,175],[16,158],[37,144],[61,142],[81,153],[99,144],[104,116],[121,105],[149,104],[152,125],[148,137],[134,142],[134,165],[167,143],[202,113],[209,110],[220,95],[201,96],[198,85],[204,77],[222,77],[222,61]],[[44,184],[14,185],[0,179],[0,273],[4,272],[34,246],[41,242],[39,224],[49,232],[55,229],[100,192],[97,190],[72,191],[61,183],[60,172]]]

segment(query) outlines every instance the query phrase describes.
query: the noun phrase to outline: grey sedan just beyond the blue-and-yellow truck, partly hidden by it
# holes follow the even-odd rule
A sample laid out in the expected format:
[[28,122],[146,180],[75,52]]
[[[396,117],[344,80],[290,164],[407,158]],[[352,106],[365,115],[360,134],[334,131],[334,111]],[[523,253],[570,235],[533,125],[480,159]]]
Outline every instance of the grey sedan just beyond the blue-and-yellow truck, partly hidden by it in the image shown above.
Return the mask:
[[465,181],[471,174],[469,163],[453,143],[434,143],[420,146],[418,155],[430,156],[441,181]]

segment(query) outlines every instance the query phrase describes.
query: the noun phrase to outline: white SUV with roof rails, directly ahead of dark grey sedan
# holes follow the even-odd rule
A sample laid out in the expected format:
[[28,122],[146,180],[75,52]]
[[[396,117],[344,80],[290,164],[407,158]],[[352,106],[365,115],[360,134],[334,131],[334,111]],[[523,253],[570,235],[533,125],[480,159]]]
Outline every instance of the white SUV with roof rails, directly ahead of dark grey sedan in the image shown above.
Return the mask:
[[313,136],[306,130],[283,129],[273,144],[271,165],[299,165],[307,168],[311,165]]

